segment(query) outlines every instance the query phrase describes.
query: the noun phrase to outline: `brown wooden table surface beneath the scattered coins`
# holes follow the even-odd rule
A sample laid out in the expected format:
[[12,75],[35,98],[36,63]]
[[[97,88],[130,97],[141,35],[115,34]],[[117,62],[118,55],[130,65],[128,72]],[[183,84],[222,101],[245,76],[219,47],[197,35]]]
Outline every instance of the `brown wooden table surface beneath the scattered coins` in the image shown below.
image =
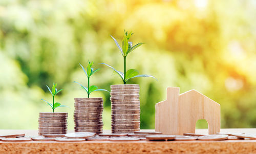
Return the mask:
[[[150,129],[148,129],[150,130]],[[73,131],[69,131],[73,132]],[[256,134],[256,128],[221,129],[225,132]],[[25,133],[37,130],[0,130],[0,134]],[[110,130],[104,130],[110,133]],[[196,133],[207,134],[207,129]],[[1,153],[256,153],[256,140],[224,141],[84,141],[84,142],[0,142]]]

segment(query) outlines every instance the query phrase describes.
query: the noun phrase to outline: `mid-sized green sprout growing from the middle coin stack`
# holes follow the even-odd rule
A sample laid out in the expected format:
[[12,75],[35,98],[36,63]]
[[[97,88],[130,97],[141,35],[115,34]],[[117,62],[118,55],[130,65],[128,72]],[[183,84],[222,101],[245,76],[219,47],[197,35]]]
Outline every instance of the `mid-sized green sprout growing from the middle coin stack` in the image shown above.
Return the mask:
[[74,81],[75,83],[77,83],[77,84],[79,84],[81,87],[82,87],[82,89],[84,89],[84,90],[86,90],[86,92],[87,92],[87,96],[88,96],[88,98],[90,97],[90,94],[92,93],[92,92],[95,92],[95,91],[106,91],[106,92],[109,92],[109,91],[107,91],[107,90],[103,90],[103,89],[98,89],[98,86],[96,86],[96,85],[91,85],[90,86],[90,77],[95,73],[95,72],[98,72],[100,69],[97,69],[97,70],[94,70],[93,68],[92,68],[92,65],[93,65],[93,61],[91,62],[91,61],[88,61],[88,65],[87,65],[87,71],[83,68],[83,66],[80,64],[80,66],[81,66],[81,68],[82,68],[82,70],[83,70],[83,72],[84,73],[86,73],[86,76],[87,76],[87,78],[88,78],[88,87],[85,87],[85,86],[83,86],[82,84],[80,84],[80,83],[78,83],[78,82],[76,82],[76,81]]

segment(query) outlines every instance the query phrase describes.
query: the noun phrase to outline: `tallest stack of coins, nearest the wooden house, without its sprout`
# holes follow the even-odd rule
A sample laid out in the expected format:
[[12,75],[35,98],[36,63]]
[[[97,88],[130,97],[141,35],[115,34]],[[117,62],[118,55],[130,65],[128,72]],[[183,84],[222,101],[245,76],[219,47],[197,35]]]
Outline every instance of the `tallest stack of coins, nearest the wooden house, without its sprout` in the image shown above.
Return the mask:
[[138,84],[111,85],[112,133],[140,130],[139,91]]

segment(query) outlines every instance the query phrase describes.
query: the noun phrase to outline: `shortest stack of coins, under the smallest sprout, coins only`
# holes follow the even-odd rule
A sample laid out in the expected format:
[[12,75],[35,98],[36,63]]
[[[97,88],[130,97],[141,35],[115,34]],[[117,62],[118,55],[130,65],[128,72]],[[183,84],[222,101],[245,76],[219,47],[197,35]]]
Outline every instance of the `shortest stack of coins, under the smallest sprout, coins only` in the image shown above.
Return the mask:
[[39,113],[38,135],[66,134],[68,113]]

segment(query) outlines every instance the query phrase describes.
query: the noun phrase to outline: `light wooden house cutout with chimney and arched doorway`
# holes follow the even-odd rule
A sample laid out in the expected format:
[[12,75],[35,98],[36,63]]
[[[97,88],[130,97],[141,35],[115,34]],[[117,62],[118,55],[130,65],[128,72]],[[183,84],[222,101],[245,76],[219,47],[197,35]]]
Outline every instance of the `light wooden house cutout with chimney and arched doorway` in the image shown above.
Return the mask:
[[208,134],[220,132],[220,104],[195,90],[180,94],[179,87],[167,87],[167,99],[155,107],[155,129],[163,134],[195,133],[199,119],[208,122]]

